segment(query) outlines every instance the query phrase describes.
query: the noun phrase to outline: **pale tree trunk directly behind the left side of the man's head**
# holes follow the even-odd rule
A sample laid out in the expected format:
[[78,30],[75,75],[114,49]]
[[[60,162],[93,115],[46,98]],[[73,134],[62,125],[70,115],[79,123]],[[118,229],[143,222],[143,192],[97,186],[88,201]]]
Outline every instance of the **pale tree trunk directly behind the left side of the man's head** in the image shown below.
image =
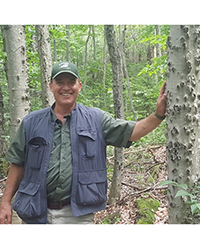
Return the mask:
[[49,89],[52,70],[51,45],[48,25],[36,25],[38,54],[40,59],[40,76],[42,85],[42,106],[49,107],[54,102],[53,94]]

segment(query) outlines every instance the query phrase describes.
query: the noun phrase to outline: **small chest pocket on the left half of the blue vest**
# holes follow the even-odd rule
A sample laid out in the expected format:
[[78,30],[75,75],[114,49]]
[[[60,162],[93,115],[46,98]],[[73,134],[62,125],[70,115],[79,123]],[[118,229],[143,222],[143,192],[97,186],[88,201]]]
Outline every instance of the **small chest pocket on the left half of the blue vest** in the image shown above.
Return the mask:
[[46,141],[42,137],[35,137],[28,142],[27,166],[39,169],[42,164]]

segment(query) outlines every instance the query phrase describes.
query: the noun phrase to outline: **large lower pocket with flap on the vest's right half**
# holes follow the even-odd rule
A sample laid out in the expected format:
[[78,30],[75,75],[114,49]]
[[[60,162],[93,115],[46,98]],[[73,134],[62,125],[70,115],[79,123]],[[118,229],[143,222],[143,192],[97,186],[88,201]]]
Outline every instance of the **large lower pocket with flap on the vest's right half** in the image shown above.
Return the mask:
[[107,200],[106,170],[80,172],[78,175],[78,205],[97,205]]

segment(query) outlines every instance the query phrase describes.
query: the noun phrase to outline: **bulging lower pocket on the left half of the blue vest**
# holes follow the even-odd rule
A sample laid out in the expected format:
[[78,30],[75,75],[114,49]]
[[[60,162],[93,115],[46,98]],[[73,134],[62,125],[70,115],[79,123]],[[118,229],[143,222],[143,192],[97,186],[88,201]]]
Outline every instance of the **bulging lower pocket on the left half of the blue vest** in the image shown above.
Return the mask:
[[13,203],[13,209],[22,219],[41,215],[41,195],[39,188],[40,184],[22,180]]

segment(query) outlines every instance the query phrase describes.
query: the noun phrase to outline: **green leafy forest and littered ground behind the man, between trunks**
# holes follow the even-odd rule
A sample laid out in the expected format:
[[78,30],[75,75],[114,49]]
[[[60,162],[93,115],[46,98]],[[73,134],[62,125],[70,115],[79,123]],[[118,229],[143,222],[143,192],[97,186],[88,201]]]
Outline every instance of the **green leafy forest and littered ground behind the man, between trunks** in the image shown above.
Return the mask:
[[[121,39],[119,25],[115,25],[115,30],[118,44],[120,45],[123,40],[123,50],[130,83],[130,89],[128,89],[127,78],[125,77],[125,72],[123,72],[124,116],[126,120],[135,120],[134,112],[131,109],[132,102],[136,118],[140,120],[155,112],[159,91],[165,81],[167,68],[166,40],[169,34],[169,26],[123,25],[123,39]],[[80,78],[84,86],[78,97],[78,102],[87,106],[98,107],[109,112],[114,117],[112,65],[109,61],[105,42],[104,26],[49,25],[49,33],[52,64],[59,61],[71,61],[78,66]],[[34,25],[25,25],[25,35],[30,111],[34,111],[42,108],[40,62]],[[5,62],[6,53],[3,49],[3,39],[0,34],[0,85],[5,118],[4,134],[1,136],[6,139],[7,147],[9,147],[9,88],[5,73]],[[131,100],[129,94],[131,94]],[[125,207],[127,209],[133,208],[133,212],[130,212],[130,220],[122,218],[123,211],[127,210],[122,208],[120,210],[120,205],[114,204],[113,206],[119,206],[117,211],[113,209],[113,206],[112,208],[108,207],[106,211],[109,211],[109,209],[112,211],[110,210],[109,215],[106,215],[107,212],[104,211],[105,216],[101,214],[101,219],[98,219],[97,213],[96,223],[153,223],[155,221],[154,212],[158,210],[159,204],[160,206],[164,204],[164,201],[162,202],[160,198],[162,196],[160,193],[163,190],[158,190],[159,194],[154,195],[153,192],[155,190],[152,191],[151,188],[159,182],[160,173],[165,168],[165,160],[156,160],[154,153],[159,151],[159,148],[163,149],[166,142],[165,131],[166,123],[163,121],[158,128],[134,142],[130,149],[124,151],[124,180],[122,183],[121,202],[124,209]],[[108,147],[107,153],[108,179],[111,182],[113,147]],[[163,155],[165,155],[164,151],[160,153],[160,157],[162,158]],[[0,199],[9,166],[5,158],[5,155],[1,155]],[[154,164],[155,166],[153,166]],[[130,174],[130,179],[127,173]],[[146,188],[150,188],[149,192],[144,191],[143,193],[142,190]],[[136,194],[135,196],[134,193]],[[131,194],[133,195],[131,196]],[[126,203],[126,201],[123,203],[123,199],[128,199],[130,204]],[[125,217],[127,218],[127,216]]]

